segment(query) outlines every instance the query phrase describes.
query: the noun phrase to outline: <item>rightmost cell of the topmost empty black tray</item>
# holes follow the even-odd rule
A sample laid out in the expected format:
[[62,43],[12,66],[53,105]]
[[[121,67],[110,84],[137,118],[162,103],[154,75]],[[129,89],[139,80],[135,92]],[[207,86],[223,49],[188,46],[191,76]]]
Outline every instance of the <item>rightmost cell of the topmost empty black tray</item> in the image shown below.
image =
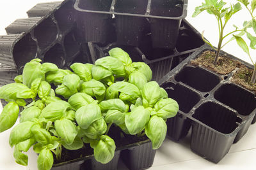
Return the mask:
[[184,1],[152,0],[150,15],[166,18],[150,18],[152,45],[154,48],[174,48],[179,35],[181,19],[184,18]]

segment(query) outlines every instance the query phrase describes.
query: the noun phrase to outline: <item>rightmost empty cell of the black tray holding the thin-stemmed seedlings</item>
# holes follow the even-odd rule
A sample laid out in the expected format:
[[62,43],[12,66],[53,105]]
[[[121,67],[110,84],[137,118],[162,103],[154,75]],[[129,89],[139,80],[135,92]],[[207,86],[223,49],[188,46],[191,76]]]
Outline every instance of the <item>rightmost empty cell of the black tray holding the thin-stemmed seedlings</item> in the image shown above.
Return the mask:
[[230,108],[236,110],[239,115],[244,117],[246,123],[243,129],[237,134],[235,143],[241,139],[248,131],[256,112],[256,99],[252,92],[245,90],[233,83],[225,83],[216,90],[214,98]]

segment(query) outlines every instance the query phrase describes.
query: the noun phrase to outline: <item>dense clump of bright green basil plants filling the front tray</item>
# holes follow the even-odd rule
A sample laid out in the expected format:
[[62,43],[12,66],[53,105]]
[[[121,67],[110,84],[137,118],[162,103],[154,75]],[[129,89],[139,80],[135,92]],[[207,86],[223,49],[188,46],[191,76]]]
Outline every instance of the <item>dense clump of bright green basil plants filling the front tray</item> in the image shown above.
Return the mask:
[[0,115],[0,132],[15,124],[22,109],[9,140],[18,164],[28,165],[24,152],[32,146],[39,154],[40,170],[65,161],[61,153],[68,150],[93,149],[95,159],[106,164],[116,150],[116,138],[108,134],[116,128],[122,132],[120,138],[147,136],[153,149],[161,146],[166,119],[174,117],[179,106],[150,81],[147,64],[132,62],[120,48],[111,49],[94,65],[74,63],[71,70],[40,62],[31,60],[15,83],[0,88],[0,98],[9,102]]

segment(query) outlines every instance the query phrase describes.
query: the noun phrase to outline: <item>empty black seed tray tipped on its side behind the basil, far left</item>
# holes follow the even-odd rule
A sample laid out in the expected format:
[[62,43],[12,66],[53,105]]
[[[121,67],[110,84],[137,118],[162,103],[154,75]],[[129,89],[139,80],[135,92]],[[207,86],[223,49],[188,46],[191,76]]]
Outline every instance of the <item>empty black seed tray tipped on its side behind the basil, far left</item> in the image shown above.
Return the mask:
[[[40,58],[58,67],[68,67],[74,60],[88,62],[77,37],[74,1],[36,4],[29,18],[17,19],[0,36],[0,63],[17,69]],[[76,59],[80,57],[79,59]]]

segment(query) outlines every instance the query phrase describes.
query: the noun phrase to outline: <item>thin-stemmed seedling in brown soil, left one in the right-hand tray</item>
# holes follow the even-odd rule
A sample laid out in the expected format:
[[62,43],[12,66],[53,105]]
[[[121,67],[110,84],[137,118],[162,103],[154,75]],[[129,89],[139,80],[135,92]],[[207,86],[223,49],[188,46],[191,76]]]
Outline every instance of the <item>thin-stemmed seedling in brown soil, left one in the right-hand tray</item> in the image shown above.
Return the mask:
[[198,6],[195,8],[195,12],[193,13],[193,17],[196,17],[198,14],[200,14],[202,11],[207,11],[207,13],[214,15],[216,17],[216,20],[218,21],[218,31],[219,31],[219,41],[218,41],[218,47],[214,48],[214,46],[204,39],[204,32],[202,32],[202,38],[204,39],[205,43],[210,45],[214,50],[216,50],[216,55],[214,57],[213,64],[216,65],[218,61],[218,57],[220,55],[220,50],[223,48],[223,46],[227,45],[230,41],[232,41],[234,38],[230,38],[227,42],[223,44],[223,40],[234,34],[234,32],[240,32],[237,34],[237,36],[243,35],[243,32],[238,29],[237,27],[234,27],[233,31],[228,32],[227,34],[224,34],[224,29],[230,20],[231,17],[237,11],[240,11],[241,4],[236,3],[236,4],[230,4],[227,8],[225,8],[225,2],[224,1],[218,1],[218,0],[205,0],[205,3],[202,3],[201,6]]

